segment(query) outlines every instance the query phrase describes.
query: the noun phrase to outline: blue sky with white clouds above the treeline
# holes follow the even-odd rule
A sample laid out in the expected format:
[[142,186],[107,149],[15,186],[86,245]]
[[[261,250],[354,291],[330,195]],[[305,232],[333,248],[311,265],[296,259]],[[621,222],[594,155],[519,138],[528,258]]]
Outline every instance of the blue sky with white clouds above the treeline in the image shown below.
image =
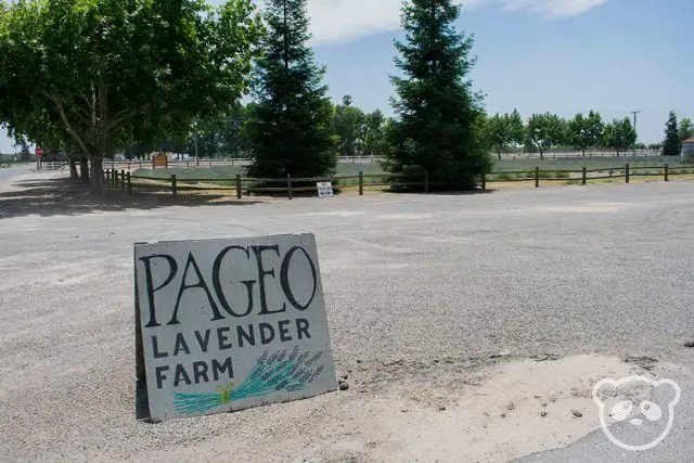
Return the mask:
[[[213,0],[213,3],[219,3]],[[330,95],[391,114],[399,0],[309,0]],[[475,35],[472,78],[491,114],[524,118],[595,110],[639,114],[639,140],[663,139],[670,110],[694,117],[692,0],[472,0],[459,27]],[[0,134],[0,151],[12,143]]]

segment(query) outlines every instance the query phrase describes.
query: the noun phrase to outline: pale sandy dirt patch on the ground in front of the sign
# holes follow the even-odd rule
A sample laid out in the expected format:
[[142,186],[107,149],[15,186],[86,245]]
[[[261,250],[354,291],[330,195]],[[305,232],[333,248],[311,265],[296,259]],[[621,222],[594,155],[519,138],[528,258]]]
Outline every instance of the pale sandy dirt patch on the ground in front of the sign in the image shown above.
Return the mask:
[[514,361],[472,371],[444,363],[440,371],[414,376],[408,371],[386,380],[388,373],[372,372],[372,380],[381,381],[273,407],[277,412],[281,408],[283,419],[298,421],[274,421],[272,437],[261,446],[254,447],[254,439],[245,436],[213,438],[140,454],[138,460],[194,460],[204,451],[214,455],[209,461],[220,462],[234,459],[231,455],[294,463],[505,462],[567,446],[597,429],[592,385],[638,372],[617,358],[599,356]]

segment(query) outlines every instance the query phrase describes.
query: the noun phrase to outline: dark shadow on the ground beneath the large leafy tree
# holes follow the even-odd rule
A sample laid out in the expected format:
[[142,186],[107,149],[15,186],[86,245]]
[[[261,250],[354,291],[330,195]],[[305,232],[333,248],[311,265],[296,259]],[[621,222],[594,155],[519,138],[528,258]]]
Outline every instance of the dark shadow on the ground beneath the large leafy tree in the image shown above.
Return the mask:
[[14,190],[0,193],[0,219],[31,215],[76,216],[170,206],[247,206],[264,203],[260,200],[236,200],[221,194],[181,194],[172,197],[170,192],[137,191],[129,195],[113,188],[104,194],[94,195],[89,192],[89,185],[65,178],[22,180],[13,182],[13,187]]

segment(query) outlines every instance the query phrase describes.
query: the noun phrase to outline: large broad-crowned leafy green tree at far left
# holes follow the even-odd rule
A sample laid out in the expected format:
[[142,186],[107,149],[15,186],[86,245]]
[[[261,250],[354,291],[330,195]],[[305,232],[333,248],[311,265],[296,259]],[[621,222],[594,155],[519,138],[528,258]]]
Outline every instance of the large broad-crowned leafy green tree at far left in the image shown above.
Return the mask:
[[249,0],[211,9],[197,0],[26,0],[0,21],[0,105],[22,129],[40,112],[91,159],[128,137],[184,130],[245,91],[261,31]]

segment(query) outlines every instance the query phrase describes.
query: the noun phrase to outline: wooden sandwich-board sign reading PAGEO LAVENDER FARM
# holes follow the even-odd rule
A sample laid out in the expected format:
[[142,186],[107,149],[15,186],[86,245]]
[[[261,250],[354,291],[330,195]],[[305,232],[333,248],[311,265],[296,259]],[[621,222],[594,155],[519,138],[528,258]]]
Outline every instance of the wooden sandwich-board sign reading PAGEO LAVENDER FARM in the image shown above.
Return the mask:
[[337,389],[312,234],[136,244],[134,266],[151,420]]

